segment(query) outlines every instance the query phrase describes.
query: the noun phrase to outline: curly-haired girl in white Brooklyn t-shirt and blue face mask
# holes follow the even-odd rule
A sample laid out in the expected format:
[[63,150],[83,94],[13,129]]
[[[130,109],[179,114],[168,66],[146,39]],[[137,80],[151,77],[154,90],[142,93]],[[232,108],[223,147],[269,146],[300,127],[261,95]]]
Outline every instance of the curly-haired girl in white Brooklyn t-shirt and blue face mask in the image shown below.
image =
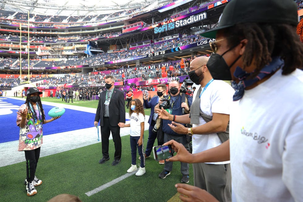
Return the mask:
[[130,127],[130,148],[131,148],[131,166],[127,170],[128,173],[137,171],[136,159],[137,148],[140,155],[139,170],[137,176],[145,173],[145,155],[143,148],[143,133],[144,133],[144,109],[143,104],[139,99],[133,99],[130,103],[130,124],[125,124],[125,127]]

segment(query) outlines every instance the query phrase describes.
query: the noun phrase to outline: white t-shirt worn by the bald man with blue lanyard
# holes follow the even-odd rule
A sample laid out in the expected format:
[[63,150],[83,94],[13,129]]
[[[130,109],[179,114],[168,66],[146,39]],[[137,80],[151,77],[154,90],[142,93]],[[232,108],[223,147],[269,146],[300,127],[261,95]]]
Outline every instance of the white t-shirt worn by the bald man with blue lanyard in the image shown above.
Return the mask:
[[[196,98],[198,88],[194,91],[193,102]],[[203,91],[204,87],[202,88]],[[235,91],[226,82],[221,80],[214,80],[207,86],[206,90],[202,93],[200,99],[200,110],[208,116],[212,116],[212,113],[230,114],[230,108],[233,102],[233,94]],[[206,124],[206,121],[200,116],[200,124],[193,124],[193,127],[197,127]],[[221,141],[217,133],[206,135],[193,135],[193,154],[202,152],[207,149],[219,146]],[[211,164],[226,164],[225,162],[212,162]]]

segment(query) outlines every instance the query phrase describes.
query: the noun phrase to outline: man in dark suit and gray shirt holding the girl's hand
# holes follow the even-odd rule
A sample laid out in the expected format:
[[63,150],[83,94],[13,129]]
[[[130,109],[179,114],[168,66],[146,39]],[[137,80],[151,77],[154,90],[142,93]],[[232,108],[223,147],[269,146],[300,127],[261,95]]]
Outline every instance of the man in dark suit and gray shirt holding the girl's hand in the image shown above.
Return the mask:
[[124,128],[125,124],[125,102],[123,92],[116,89],[114,83],[113,76],[107,75],[105,77],[107,90],[100,93],[94,125],[97,126],[100,120],[103,158],[100,159],[99,163],[103,164],[109,160],[109,135],[112,132],[115,144],[115,156],[112,165],[116,166],[121,161],[120,127]]

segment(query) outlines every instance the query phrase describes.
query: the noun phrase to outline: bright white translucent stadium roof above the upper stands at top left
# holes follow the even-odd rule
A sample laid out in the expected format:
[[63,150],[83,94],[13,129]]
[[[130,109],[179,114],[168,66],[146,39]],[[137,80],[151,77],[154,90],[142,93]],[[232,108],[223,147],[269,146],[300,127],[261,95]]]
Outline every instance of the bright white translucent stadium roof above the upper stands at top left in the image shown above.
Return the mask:
[[[38,15],[100,15],[146,7],[157,0],[0,0],[1,8]],[[161,2],[161,1],[159,1]]]

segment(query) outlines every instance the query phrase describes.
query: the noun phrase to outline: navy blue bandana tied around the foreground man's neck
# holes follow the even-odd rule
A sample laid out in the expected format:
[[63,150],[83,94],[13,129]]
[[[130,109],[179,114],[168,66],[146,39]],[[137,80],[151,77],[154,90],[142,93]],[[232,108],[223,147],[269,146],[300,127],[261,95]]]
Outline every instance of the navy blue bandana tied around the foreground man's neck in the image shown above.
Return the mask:
[[233,95],[233,101],[237,101],[241,99],[244,95],[244,89],[248,86],[253,85],[255,82],[260,81],[262,78],[266,77],[269,74],[274,73],[277,69],[280,69],[284,66],[284,61],[280,57],[272,58],[271,63],[269,65],[265,65],[260,73],[253,79],[246,80],[252,73],[247,73],[241,67],[237,66],[233,75],[238,78],[240,81],[236,83],[232,82],[232,87],[235,89],[235,94]]

